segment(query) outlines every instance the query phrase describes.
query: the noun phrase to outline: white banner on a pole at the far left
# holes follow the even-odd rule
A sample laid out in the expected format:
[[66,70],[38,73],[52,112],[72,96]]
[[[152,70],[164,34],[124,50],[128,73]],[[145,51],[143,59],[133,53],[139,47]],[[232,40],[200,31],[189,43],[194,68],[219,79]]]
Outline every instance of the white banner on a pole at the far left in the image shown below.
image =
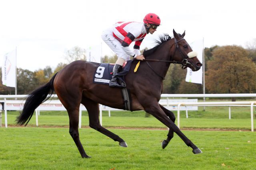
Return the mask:
[[16,50],[4,55],[2,82],[5,86],[16,87]]

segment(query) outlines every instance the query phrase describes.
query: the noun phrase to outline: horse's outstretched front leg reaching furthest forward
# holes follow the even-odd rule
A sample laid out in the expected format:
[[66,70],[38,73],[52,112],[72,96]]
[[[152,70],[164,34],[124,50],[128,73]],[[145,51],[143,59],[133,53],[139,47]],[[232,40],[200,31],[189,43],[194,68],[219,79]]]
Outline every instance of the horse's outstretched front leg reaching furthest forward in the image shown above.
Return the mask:
[[202,151],[194,145],[181,131],[180,129],[172,122],[167,115],[164,113],[162,108],[158,103],[152,103],[150,105],[144,106],[145,111],[156,117],[159,121],[161,121],[164,125],[172,129],[183,141],[186,143],[188,147],[193,149],[194,154],[202,153]]

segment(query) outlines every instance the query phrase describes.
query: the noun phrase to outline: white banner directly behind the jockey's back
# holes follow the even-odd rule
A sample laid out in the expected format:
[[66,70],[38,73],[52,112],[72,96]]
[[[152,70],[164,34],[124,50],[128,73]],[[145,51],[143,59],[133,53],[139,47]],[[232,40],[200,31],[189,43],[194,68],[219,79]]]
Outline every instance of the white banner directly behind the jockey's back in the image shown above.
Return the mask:
[[94,45],[86,49],[86,61],[101,63],[101,45]]

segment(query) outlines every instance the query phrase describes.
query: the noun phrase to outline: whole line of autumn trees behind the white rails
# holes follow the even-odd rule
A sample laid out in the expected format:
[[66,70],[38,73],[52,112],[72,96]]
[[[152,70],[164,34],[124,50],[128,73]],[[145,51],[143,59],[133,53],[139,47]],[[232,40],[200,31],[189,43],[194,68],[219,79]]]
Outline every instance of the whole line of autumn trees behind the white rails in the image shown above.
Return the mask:
[[[73,47],[66,51],[64,59],[67,63],[86,60],[86,51],[80,47]],[[256,93],[256,39],[254,43],[248,43],[247,48],[237,45],[205,48],[204,59],[206,93]],[[116,55],[105,55],[102,59],[103,63],[115,63],[116,60]],[[17,68],[17,94],[29,94],[46,84],[64,66],[65,63],[59,63],[55,69],[46,66],[34,72]],[[171,64],[164,80],[163,93],[202,94],[202,84],[185,81],[186,72],[187,70],[182,70],[179,64]],[[14,93],[14,88],[0,84],[0,94]]]

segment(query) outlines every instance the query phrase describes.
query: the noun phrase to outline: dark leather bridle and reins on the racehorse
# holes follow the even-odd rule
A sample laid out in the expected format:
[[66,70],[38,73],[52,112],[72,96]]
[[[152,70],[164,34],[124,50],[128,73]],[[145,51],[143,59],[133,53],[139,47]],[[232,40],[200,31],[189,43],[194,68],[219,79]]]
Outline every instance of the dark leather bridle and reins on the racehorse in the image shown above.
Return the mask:
[[[148,64],[149,68],[151,68],[151,70],[153,70],[154,73],[156,73],[156,75],[158,75],[159,77],[161,77],[163,80],[165,79],[164,77],[160,76],[153,68],[152,66],[150,66],[150,64],[148,63],[148,61],[156,61],[156,62],[166,62],[166,63],[173,63],[174,65],[176,64],[181,64],[182,65],[182,69],[185,69],[187,68],[187,64],[191,64],[188,62],[187,58],[188,56],[187,55],[184,55],[184,53],[182,53],[182,51],[180,50],[180,47],[178,45],[178,42],[180,42],[181,40],[183,40],[184,38],[181,38],[177,41],[177,39],[174,37],[174,44],[176,45],[176,48],[175,48],[175,51],[174,51],[174,54],[171,56],[171,61],[168,61],[168,60],[156,60],[156,59],[144,59],[143,61],[146,61],[146,63]],[[172,57],[175,55],[176,53],[176,50],[178,49],[180,55],[183,57],[183,60],[182,61],[172,61]]]

